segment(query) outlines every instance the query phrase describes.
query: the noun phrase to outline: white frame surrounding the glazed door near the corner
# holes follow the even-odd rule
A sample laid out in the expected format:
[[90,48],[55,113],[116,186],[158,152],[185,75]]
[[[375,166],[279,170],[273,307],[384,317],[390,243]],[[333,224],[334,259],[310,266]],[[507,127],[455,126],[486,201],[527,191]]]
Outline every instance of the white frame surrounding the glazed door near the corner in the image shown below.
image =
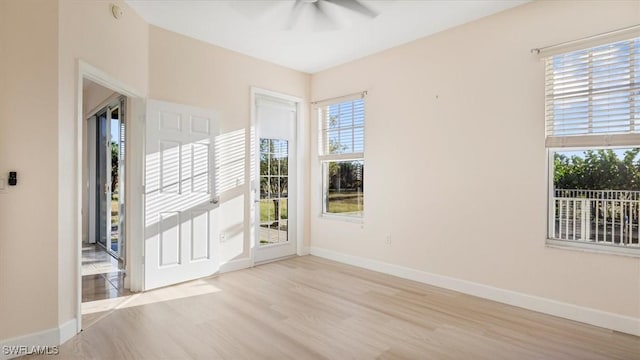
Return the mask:
[[[257,114],[256,114],[256,97],[259,95],[266,95],[266,96],[271,96],[271,97],[275,97],[275,98],[279,98],[279,99],[283,99],[283,100],[287,100],[287,101],[291,101],[291,102],[295,102],[296,103],[296,131],[295,131],[295,137],[296,137],[296,159],[290,159],[289,161],[295,161],[296,164],[296,173],[295,173],[295,177],[296,177],[296,219],[295,219],[295,241],[296,241],[296,254],[297,255],[304,255],[305,249],[304,249],[304,239],[303,239],[303,234],[304,234],[304,217],[305,217],[305,210],[304,210],[304,196],[302,196],[302,194],[305,191],[305,185],[306,184],[306,177],[304,176],[305,172],[304,172],[304,168],[305,168],[305,162],[304,162],[304,158],[305,158],[305,144],[307,143],[304,138],[304,134],[306,133],[306,128],[305,128],[305,124],[304,124],[304,116],[303,116],[303,111],[304,111],[304,102],[302,98],[296,97],[296,96],[291,96],[291,95],[287,95],[287,94],[282,94],[276,91],[271,91],[271,90],[266,90],[266,89],[262,89],[262,88],[258,88],[255,86],[251,87],[251,156],[250,156],[250,169],[253,169],[253,171],[250,171],[249,173],[252,175],[255,175],[259,170],[255,169],[254,167],[256,166],[256,162],[257,162],[257,156],[258,153],[256,152],[257,148],[258,148],[258,141],[259,139],[257,138],[257,130],[256,130],[256,120],[257,120]],[[259,219],[256,219],[255,213],[255,207],[256,207],[256,194],[259,191],[258,190],[259,184],[256,183],[256,176],[251,176],[251,181],[250,181],[250,189],[249,189],[249,197],[248,197],[248,208],[250,209],[250,256],[251,256],[251,264],[252,266],[255,265],[256,263],[256,259],[255,259],[255,254],[256,254],[256,249],[258,244],[256,243],[257,239],[256,239],[256,222],[259,221]]]

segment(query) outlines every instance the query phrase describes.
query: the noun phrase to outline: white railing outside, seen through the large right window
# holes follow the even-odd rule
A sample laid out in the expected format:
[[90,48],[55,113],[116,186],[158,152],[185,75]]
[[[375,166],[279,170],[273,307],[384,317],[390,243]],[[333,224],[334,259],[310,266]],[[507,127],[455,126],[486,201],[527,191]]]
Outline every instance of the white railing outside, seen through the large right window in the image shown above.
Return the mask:
[[640,247],[640,191],[556,189],[550,237]]

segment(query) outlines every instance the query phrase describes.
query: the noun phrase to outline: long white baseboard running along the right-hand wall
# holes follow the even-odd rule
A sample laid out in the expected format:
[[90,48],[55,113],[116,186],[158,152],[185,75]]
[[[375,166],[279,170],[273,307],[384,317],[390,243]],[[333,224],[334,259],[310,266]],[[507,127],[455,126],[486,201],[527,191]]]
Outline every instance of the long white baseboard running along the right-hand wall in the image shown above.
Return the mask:
[[311,255],[590,325],[640,336],[640,319],[311,247]]

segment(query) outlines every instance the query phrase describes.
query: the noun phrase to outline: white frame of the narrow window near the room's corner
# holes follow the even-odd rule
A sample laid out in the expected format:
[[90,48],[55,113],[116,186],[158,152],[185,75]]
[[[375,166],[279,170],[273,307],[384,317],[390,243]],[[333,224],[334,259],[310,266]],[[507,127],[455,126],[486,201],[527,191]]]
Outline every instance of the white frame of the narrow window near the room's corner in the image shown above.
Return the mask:
[[[366,92],[346,95],[322,102],[314,103],[316,110],[316,118],[317,129],[318,129],[318,147],[317,147],[317,156],[318,162],[320,164],[320,187],[321,187],[321,199],[320,199],[320,217],[331,220],[341,220],[346,222],[355,222],[355,223],[363,223],[365,218],[365,208],[364,208],[364,167],[365,167],[365,152],[366,152],[366,101],[365,101]],[[362,124],[362,151],[361,152],[346,152],[346,153],[336,153],[336,154],[327,154],[325,153],[325,149],[327,149],[327,141],[328,139],[328,127],[325,127],[324,123],[326,121],[326,109],[330,106],[345,104],[345,103],[354,103],[356,101],[362,101],[362,113],[363,113],[363,124]],[[353,127],[355,128],[355,127]],[[355,142],[353,135],[351,139],[352,143]],[[329,196],[328,191],[328,181],[326,179],[327,167],[329,163],[332,162],[349,162],[349,161],[359,161],[362,164],[362,211],[359,211],[357,214],[354,213],[332,213],[328,212],[326,208],[327,197]]]

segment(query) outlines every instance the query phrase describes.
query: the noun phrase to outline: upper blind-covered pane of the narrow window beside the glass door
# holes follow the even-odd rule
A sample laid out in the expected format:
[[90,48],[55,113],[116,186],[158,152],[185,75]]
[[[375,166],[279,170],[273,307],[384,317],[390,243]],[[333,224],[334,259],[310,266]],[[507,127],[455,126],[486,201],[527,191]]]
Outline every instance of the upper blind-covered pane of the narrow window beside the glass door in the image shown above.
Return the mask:
[[364,157],[364,99],[322,106],[319,116],[321,160]]

